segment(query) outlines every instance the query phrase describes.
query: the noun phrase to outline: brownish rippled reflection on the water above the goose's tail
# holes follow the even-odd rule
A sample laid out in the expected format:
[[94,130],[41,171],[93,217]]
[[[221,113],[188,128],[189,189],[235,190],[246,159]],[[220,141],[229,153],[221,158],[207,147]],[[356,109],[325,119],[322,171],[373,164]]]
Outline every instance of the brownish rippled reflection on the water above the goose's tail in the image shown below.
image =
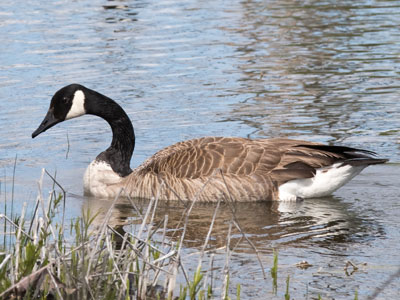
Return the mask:
[[[384,33],[397,28],[392,9],[399,6],[353,1],[241,4],[241,19],[222,29],[238,37],[234,47],[242,78],[236,91],[248,97],[227,120],[254,127],[253,136],[337,142],[357,133],[368,134],[374,143],[371,124],[385,119],[388,111],[370,91],[387,91],[388,101],[394,101],[391,92],[399,88],[393,80],[398,47]],[[372,25],[382,22],[385,26]],[[394,129],[383,122],[380,126]]]

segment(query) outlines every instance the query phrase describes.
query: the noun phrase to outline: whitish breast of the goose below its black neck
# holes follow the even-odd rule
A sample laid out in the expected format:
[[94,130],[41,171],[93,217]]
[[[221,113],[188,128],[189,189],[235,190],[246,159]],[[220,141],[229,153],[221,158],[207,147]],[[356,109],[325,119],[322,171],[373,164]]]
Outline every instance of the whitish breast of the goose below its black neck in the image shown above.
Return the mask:
[[85,193],[101,198],[111,198],[118,193],[122,177],[113,171],[104,161],[94,160],[90,163],[83,177]]

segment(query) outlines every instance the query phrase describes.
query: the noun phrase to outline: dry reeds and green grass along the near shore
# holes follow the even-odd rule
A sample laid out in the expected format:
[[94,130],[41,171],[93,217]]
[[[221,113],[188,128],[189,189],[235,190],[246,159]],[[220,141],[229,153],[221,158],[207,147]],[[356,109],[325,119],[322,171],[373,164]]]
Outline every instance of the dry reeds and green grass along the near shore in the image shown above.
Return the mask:
[[[42,196],[46,175],[53,182],[47,199]],[[144,210],[138,208],[135,199],[128,198],[140,223],[137,230],[125,232],[123,226],[112,227],[109,224],[119,196],[101,215],[86,210],[82,211],[82,216],[65,221],[66,192],[62,186],[46,170],[42,171],[38,186],[30,217],[27,217],[26,203],[20,215],[14,214],[13,199],[11,208],[7,208],[5,201],[4,214],[0,214],[3,229],[0,236],[0,299],[240,299],[241,285],[230,286],[229,266],[236,247],[231,243],[233,228],[240,232],[241,240],[246,241],[257,255],[264,283],[271,285],[271,296],[277,295],[278,252],[274,250],[270,266],[263,265],[260,252],[235,218],[229,195],[227,199],[221,199],[232,211],[231,219],[227,220],[229,228],[225,245],[218,249],[207,247],[220,200],[215,206],[204,243],[196,253],[197,268],[188,271],[182,262],[182,255],[185,255],[182,245],[196,199],[185,204],[176,231],[180,236],[172,240],[167,235],[168,215],[154,226],[157,196]],[[61,192],[57,192],[58,189]],[[101,222],[95,224],[96,219],[101,219]],[[222,268],[213,267],[216,251],[219,255],[225,252]],[[399,277],[398,273],[400,271],[391,280]],[[285,292],[283,299],[287,300],[291,299],[290,279],[287,276],[285,287],[281,287]],[[368,299],[375,299],[385,284]],[[318,296],[315,299],[322,298]],[[357,291],[354,299],[358,299]]]

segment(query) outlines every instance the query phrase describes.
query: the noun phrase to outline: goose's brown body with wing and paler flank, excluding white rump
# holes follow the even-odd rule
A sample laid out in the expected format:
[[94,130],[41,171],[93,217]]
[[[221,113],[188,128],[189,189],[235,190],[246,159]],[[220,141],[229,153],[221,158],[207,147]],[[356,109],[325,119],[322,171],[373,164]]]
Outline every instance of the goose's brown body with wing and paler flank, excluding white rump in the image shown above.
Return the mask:
[[157,152],[122,185],[133,197],[277,200],[279,186],[290,180],[312,178],[319,168],[365,157],[363,150],[291,139],[205,137]]

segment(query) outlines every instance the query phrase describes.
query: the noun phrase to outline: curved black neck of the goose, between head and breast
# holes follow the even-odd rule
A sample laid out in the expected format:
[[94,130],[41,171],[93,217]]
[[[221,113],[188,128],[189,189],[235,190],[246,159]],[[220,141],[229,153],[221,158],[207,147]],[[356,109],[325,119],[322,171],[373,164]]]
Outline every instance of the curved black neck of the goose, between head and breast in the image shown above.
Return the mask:
[[112,99],[89,89],[85,91],[85,97],[86,113],[106,120],[113,133],[110,147],[96,159],[110,164],[113,171],[120,176],[127,176],[132,172],[130,161],[135,148],[135,133],[131,120]]

